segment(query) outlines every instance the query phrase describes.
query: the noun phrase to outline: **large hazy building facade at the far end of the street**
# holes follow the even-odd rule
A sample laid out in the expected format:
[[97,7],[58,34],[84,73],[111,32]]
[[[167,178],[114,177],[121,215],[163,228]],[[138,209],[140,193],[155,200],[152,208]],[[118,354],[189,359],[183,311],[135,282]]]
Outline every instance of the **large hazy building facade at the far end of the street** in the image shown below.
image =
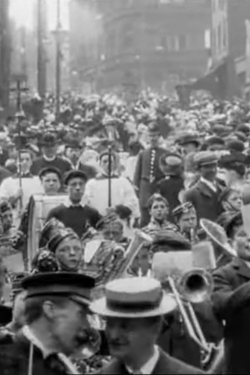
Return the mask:
[[72,82],[92,90],[172,91],[207,66],[207,0],[71,0]]

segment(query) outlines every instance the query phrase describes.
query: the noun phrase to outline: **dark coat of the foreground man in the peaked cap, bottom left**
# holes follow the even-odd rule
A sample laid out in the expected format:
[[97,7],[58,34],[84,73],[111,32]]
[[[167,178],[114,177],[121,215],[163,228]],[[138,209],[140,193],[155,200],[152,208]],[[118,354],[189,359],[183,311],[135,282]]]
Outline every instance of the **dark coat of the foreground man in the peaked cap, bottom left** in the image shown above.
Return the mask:
[[[12,342],[0,342],[0,374],[27,375],[29,358],[29,341],[17,336]],[[65,375],[62,363],[43,359],[41,351],[34,347],[33,375]]]

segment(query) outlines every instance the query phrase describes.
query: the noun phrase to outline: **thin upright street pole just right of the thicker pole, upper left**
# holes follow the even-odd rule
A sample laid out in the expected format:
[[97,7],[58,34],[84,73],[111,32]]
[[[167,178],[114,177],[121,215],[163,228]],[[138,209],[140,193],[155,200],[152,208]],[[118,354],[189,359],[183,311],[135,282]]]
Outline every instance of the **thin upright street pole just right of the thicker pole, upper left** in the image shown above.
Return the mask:
[[57,25],[56,25],[56,77],[55,77],[55,115],[59,117],[60,113],[60,91],[61,91],[61,46],[60,46],[60,0],[57,0]]

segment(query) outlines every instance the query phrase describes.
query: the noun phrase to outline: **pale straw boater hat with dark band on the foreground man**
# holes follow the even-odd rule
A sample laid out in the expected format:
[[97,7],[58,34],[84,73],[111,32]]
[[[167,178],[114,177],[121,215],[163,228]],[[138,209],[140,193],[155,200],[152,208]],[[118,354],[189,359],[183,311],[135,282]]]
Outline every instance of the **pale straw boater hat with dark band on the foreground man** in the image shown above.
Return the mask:
[[105,286],[105,296],[90,304],[94,313],[124,318],[160,316],[175,307],[174,298],[163,292],[160,282],[148,277],[110,281]]

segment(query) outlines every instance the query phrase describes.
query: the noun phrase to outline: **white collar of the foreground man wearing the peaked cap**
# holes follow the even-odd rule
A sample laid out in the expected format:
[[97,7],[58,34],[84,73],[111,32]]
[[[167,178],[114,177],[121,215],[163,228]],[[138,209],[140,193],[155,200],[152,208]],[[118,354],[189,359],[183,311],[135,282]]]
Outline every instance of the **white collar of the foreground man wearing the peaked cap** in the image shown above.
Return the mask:
[[[30,327],[28,325],[24,325],[22,327],[22,333],[28,339],[28,341],[31,342],[31,344],[33,344],[38,349],[40,349],[40,351],[42,353],[42,356],[43,356],[43,359],[45,359],[50,354],[52,354],[51,352],[49,352],[45,348],[45,346],[43,345],[43,343],[35,336],[35,334],[31,331],[31,329],[30,329]],[[63,354],[63,353],[56,353],[56,354],[57,354],[58,358],[61,360],[61,362],[64,363],[64,365],[66,366],[66,368],[68,368],[69,373],[79,374],[79,372],[74,367],[73,363],[68,359],[68,357],[65,354]]]

